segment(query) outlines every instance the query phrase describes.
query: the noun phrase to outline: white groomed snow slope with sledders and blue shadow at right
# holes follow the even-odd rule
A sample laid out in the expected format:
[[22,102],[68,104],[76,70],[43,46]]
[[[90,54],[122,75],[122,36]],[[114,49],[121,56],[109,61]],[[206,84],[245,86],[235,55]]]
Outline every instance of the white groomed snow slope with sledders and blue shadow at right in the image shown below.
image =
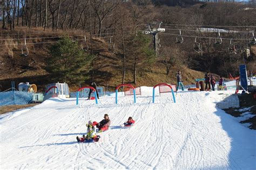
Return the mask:
[[[221,94],[222,93],[222,94]],[[1,169],[256,169],[256,131],[216,107],[234,91],[170,93],[95,100],[50,98],[5,114]],[[98,143],[77,143],[89,121],[111,119]],[[136,124],[120,128],[132,116]]]

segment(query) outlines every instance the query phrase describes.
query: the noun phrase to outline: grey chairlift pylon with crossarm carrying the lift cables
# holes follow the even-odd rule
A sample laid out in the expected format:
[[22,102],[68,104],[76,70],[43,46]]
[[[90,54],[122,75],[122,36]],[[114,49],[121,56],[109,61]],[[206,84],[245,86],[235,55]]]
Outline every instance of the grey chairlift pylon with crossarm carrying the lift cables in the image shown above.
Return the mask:
[[159,32],[165,32],[165,29],[160,28],[161,27],[161,23],[153,23],[153,24],[159,24],[158,29],[153,28],[151,29],[151,24],[147,24],[147,26],[149,27],[149,31],[143,31],[144,34],[152,34],[153,35],[153,46],[154,46],[154,51],[156,51],[156,56],[158,56],[158,50],[160,47],[160,40],[158,38],[158,33]]

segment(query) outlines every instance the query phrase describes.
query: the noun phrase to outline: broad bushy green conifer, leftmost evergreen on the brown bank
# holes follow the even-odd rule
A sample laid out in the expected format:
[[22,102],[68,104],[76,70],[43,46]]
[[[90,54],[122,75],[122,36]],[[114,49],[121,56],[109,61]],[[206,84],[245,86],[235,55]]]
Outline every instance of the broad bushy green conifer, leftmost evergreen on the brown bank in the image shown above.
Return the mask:
[[69,37],[64,37],[51,46],[50,55],[46,61],[46,70],[53,74],[57,81],[83,81],[85,74],[91,69],[93,56],[85,53],[77,42],[73,42]]

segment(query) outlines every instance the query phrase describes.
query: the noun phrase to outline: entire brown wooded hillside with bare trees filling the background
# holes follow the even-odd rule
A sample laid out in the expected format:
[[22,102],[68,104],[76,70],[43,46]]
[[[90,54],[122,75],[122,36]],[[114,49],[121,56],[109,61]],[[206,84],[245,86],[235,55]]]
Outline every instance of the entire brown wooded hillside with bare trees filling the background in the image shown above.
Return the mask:
[[[166,6],[152,1],[94,2],[63,0],[48,1],[45,5],[43,1],[31,0],[24,4],[3,3],[0,22],[1,90],[10,88],[14,80],[16,86],[19,82],[30,82],[37,84],[39,91],[44,91],[45,84],[51,83],[53,77],[57,78],[54,81],[69,82],[72,90],[91,79],[100,86],[113,89],[122,82],[124,67],[124,82],[134,82],[133,65],[140,65],[136,86],[175,83],[177,70],[181,70],[184,84],[203,77],[206,71],[224,77],[229,73],[238,76],[241,64],[256,72],[256,47],[253,43],[256,10],[253,4]],[[12,15],[15,11],[17,15]],[[157,28],[161,31],[157,31],[153,43],[156,32],[152,30]],[[141,34],[149,39],[147,46],[140,41],[144,38],[138,38]],[[58,80],[58,75],[53,76],[49,70],[46,72],[46,61],[52,57],[49,48],[64,36],[78,42],[86,54],[96,55],[93,63],[86,66],[90,72],[84,68],[80,72],[84,76],[80,82]],[[177,39],[181,37],[183,41],[178,43],[181,41]],[[154,49],[153,44],[159,56],[156,61],[147,55]],[[199,44],[200,48],[196,49]],[[21,56],[22,49],[29,55]],[[247,50],[250,50],[250,55],[246,54]],[[171,69],[166,75],[168,65]]]

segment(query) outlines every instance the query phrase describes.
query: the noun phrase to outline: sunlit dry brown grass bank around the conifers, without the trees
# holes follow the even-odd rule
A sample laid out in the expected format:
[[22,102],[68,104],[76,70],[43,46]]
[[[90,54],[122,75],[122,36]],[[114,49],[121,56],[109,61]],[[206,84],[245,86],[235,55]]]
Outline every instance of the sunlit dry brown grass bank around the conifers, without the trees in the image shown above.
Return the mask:
[[[5,33],[8,32],[9,31],[7,30],[5,31]],[[58,40],[58,38],[51,38],[50,40],[46,39],[45,41],[45,39],[37,39],[37,37],[59,37],[64,36],[67,33],[71,37],[74,34],[82,35],[82,33],[78,31],[59,31],[49,34],[50,31],[44,32],[42,30],[28,29],[26,27],[20,27],[15,32],[12,32],[12,34],[22,34],[24,32],[27,33],[26,38],[35,38],[32,40],[27,40],[27,43],[51,42]],[[80,45],[85,46],[83,41],[78,42]],[[10,40],[9,43],[12,44],[14,42]],[[107,86],[113,89],[122,82],[122,58],[109,51],[108,44],[104,38],[93,38],[92,43],[93,53],[97,55],[94,62],[95,81],[100,86]],[[44,86],[47,83],[52,83],[52,76],[45,71],[45,62],[47,58],[51,57],[49,54],[49,46],[51,45],[51,43],[27,45],[29,49],[28,56],[21,55],[21,45],[2,46],[3,48],[0,48],[0,61],[2,63],[0,84],[2,86],[2,90],[10,88],[11,81],[15,81],[16,86],[19,82],[30,82],[31,84],[36,84],[38,86],[39,91],[44,91]],[[9,49],[12,49],[12,55],[8,54]],[[90,46],[88,52],[91,52]],[[201,78],[204,76],[204,73],[197,72],[196,70],[191,70],[185,66],[179,68],[173,67],[171,68],[169,75],[166,75],[164,64],[161,62],[156,62],[150,67],[139,70],[137,74],[138,77],[136,86],[154,86],[156,82],[176,83],[175,75],[178,69],[181,69],[184,84],[191,84],[194,82],[194,79]],[[90,82],[90,74],[88,76],[89,78],[86,78],[86,83]],[[63,82],[63,80],[58,81]],[[129,67],[127,67],[125,82],[132,83],[132,81],[132,70]],[[81,83],[82,85],[85,84],[85,82]],[[79,82],[71,83],[71,91],[75,91],[79,87],[79,85]]]

